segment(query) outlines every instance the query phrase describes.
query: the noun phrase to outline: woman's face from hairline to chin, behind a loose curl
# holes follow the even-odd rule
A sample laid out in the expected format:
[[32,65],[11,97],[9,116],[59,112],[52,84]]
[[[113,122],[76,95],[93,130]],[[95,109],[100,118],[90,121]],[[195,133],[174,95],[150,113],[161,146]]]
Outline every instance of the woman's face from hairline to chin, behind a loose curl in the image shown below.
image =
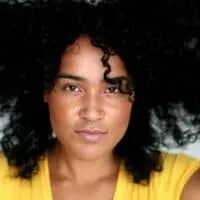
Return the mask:
[[[59,143],[79,159],[111,154],[129,123],[132,103],[117,86],[104,81],[102,55],[89,38],[78,38],[63,54],[60,78],[45,96]],[[117,55],[111,56],[109,63],[109,77],[128,77]]]

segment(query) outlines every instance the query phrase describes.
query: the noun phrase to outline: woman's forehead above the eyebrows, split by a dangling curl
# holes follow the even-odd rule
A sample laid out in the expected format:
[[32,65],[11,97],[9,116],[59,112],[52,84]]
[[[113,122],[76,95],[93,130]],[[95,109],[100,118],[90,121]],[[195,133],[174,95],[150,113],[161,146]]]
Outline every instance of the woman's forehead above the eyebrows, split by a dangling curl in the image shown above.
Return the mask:
[[[89,79],[102,79],[106,67],[103,66],[102,49],[93,46],[90,38],[81,36],[64,52],[60,65],[60,73],[70,73]],[[124,62],[118,55],[110,56],[110,77],[128,76]]]

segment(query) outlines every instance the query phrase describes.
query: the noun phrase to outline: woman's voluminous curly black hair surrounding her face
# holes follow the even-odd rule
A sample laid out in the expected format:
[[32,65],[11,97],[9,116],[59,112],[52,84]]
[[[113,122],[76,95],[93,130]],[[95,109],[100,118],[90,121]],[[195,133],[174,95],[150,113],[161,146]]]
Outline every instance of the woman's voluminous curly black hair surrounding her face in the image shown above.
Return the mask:
[[[61,55],[81,35],[101,48],[108,78],[110,49],[124,61],[135,93],[131,119],[114,152],[133,181],[162,171],[161,147],[200,136],[198,1],[118,0],[97,6],[52,0],[0,5],[2,150],[18,176],[32,178],[54,145],[44,91]],[[131,90],[124,91],[131,95]],[[183,128],[183,124],[188,127]]]

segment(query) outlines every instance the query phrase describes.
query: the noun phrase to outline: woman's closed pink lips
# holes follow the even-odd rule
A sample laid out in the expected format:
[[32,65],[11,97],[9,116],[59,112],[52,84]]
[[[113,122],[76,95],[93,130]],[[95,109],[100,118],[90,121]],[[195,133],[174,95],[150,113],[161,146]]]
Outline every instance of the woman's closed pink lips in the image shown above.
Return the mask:
[[98,129],[82,129],[76,130],[75,132],[87,142],[97,142],[107,133],[106,131]]

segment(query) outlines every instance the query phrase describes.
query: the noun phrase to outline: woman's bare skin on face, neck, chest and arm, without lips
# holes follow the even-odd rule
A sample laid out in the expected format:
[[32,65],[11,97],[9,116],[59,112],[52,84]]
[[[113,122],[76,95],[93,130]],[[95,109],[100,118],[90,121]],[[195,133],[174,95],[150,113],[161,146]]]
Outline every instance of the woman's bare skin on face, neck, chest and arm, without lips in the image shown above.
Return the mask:
[[[113,149],[123,138],[134,105],[103,80],[102,51],[81,36],[62,56],[53,90],[44,96],[58,139],[49,152],[53,200],[112,200],[120,161]],[[111,56],[110,77],[128,77],[119,56]],[[116,109],[117,108],[117,109]],[[94,123],[88,124],[91,120]],[[90,140],[77,134],[98,129],[102,137]],[[199,200],[200,171],[185,185],[181,200]]]

